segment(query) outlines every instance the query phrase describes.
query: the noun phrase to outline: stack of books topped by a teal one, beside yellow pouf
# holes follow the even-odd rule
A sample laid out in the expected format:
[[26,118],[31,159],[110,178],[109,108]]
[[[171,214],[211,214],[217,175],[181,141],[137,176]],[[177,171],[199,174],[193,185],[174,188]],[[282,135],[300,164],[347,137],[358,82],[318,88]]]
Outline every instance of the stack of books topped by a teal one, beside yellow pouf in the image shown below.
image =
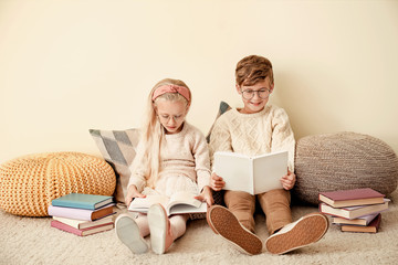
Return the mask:
[[52,200],[49,215],[51,226],[80,236],[114,227],[112,197],[71,193]]

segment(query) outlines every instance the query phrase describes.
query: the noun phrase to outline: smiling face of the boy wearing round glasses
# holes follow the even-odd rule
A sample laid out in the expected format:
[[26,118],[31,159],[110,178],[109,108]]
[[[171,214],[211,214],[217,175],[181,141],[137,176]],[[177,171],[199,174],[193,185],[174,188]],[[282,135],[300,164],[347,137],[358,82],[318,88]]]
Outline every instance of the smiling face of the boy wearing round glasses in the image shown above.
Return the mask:
[[259,113],[264,109],[269,96],[273,91],[273,84],[270,77],[255,83],[254,85],[237,85],[238,93],[242,96],[244,107],[240,110],[242,114]]

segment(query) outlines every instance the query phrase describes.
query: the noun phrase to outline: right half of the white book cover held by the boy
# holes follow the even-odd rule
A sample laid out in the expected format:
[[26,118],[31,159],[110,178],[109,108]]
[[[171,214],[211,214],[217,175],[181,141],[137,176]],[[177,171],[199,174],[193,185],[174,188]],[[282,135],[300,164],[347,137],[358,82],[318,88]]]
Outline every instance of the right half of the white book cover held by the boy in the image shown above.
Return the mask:
[[281,178],[287,173],[287,151],[266,153],[253,159],[254,194],[283,189]]

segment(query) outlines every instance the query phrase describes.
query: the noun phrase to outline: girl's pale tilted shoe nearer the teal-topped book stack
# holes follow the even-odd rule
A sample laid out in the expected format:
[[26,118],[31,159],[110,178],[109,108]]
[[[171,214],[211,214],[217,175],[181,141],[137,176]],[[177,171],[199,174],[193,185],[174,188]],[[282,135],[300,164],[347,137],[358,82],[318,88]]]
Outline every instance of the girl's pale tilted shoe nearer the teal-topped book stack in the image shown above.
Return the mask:
[[148,244],[140,235],[139,227],[132,216],[123,213],[115,221],[115,232],[117,237],[134,254],[143,254],[148,252]]

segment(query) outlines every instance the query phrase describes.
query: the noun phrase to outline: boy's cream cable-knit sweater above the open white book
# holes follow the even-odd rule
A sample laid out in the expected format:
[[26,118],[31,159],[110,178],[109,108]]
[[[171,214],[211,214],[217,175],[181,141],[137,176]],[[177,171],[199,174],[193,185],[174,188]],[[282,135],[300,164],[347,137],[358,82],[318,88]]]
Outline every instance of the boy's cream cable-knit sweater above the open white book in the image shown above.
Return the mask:
[[295,140],[283,108],[266,105],[255,114],[241,114],[238,109],[221,115],[210,135],[210,158],[216,151],[233,151],[258,156],[287,150],[287,167],[294,170]]

